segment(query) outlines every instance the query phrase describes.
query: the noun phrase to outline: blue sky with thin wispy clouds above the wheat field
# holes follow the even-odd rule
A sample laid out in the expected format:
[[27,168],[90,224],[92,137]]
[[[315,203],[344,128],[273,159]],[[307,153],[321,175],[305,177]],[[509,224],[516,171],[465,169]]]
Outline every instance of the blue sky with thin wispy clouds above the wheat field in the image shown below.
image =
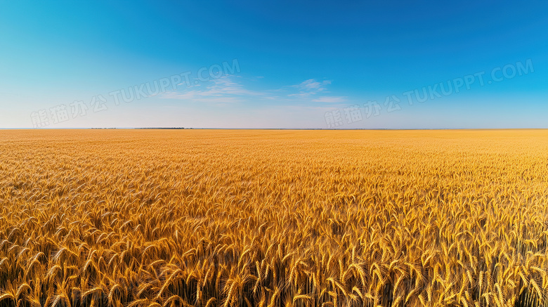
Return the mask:
[[2,1],[0,127],[548,128],[547,1]]

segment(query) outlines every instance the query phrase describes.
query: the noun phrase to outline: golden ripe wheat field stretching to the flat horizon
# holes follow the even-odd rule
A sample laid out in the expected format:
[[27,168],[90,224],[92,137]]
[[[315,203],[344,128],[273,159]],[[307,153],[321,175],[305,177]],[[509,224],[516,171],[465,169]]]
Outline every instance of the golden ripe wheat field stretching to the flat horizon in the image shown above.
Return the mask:
[[0,307],[548,306],[548,131],[0,130]]

